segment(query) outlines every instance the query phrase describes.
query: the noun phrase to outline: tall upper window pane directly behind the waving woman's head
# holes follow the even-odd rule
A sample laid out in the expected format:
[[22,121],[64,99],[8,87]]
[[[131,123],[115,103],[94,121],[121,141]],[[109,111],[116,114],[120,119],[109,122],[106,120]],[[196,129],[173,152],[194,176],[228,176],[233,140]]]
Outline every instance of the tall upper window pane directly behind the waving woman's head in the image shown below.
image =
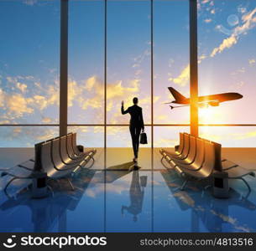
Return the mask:
[[144,123],[151,121],[150,1],[107,1],[107,123],[128,124],[121,115],[133,105],[144,109]]

